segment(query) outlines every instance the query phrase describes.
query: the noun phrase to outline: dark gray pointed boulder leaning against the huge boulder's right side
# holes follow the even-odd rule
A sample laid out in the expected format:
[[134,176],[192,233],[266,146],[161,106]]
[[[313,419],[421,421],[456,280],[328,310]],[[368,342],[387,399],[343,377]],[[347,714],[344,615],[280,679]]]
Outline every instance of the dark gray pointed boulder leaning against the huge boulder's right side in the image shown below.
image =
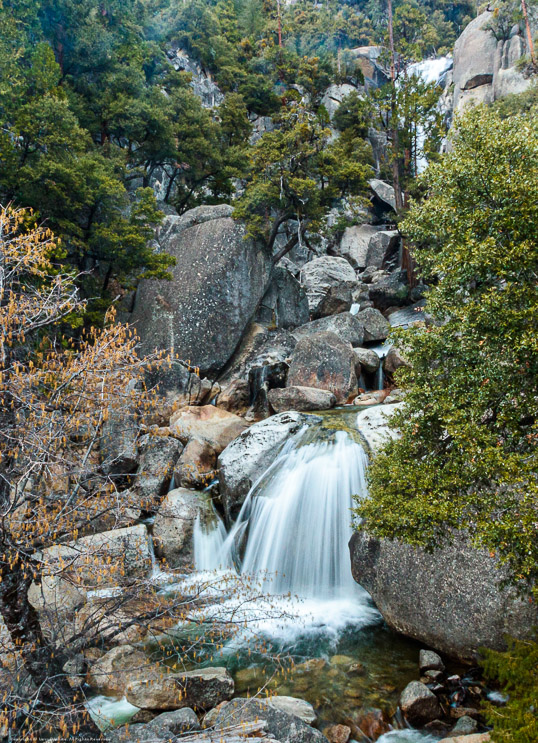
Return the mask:
[[258,309],[258,322],[275,328],[295,328],[308,322],[306,292],[283,266],[277,266]]

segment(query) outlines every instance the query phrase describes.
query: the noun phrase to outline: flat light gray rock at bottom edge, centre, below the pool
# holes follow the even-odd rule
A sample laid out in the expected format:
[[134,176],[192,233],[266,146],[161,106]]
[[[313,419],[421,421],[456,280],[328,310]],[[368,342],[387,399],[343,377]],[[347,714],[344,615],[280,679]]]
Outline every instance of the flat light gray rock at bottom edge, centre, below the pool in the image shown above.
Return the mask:
[[327,738],[296,715],[275,709],[269,700],[234,699],[217,715],[215,727],[264,720],[267,732],[280,743],[327,743]]

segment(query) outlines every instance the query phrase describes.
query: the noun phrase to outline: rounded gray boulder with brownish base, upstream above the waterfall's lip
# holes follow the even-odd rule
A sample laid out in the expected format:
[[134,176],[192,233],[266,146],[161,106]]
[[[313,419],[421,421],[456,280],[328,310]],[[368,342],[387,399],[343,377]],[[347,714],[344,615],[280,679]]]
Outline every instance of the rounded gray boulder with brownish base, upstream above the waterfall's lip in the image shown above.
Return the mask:
[[291,356],[286,386],[328,390],[338,403],[352,400],[358,383],[351,344],[331,332],[303,338]]

